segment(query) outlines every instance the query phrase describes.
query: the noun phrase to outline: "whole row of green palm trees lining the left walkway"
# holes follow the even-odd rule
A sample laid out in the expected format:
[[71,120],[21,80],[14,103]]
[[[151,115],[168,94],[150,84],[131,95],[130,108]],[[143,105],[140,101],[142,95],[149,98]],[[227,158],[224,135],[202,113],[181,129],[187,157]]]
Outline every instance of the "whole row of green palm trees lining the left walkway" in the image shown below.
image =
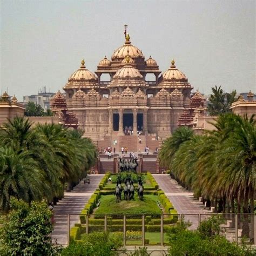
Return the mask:
[[31,127],[16,117],[0,133],[0,209],[9,210],[10,197],[57,200],[65,183],[75,185],[95,163],[96,147],[82,132],[62,125]]

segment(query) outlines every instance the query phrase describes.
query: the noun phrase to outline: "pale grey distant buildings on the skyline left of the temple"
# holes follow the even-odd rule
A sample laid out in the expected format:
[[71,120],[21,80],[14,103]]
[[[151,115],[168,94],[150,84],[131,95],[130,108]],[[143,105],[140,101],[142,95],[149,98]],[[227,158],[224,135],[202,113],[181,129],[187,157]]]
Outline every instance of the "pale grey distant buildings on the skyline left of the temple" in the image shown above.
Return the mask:
[[29,102],[41,105],[46,112],[47,109],[50,109],[50,99],[53,95],[55,95],[55,93],[46,92],[46,87],[44,86],[37,95],[23,96],[23,103],[25,106]]

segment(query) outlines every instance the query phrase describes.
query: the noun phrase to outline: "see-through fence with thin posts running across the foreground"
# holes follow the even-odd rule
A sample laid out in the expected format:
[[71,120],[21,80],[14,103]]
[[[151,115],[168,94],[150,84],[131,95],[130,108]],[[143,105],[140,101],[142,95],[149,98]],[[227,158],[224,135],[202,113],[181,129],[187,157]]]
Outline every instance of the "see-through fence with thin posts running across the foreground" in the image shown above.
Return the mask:
[[55,229],[52,242],[69,245],[71,240],[82,240],[92,232],[118,233],[124,246],[169,245],[170,227],[183,219],[190,222],[189,230],[196,230],[207,218],[220,216],[220,234],[227,240],[256,245],[256,214],[205,213],[205,214],[58,214],[54,215]]

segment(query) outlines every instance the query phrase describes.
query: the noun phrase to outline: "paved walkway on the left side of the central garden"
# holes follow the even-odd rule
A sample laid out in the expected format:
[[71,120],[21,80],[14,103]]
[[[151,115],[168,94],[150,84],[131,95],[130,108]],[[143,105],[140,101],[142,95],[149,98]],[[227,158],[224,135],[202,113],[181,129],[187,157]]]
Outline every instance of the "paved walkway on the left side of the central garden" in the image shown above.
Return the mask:
[[[104,174],[92,174],[90,184],[81,181],[71,192],[65,192],[65,196],[54,207],[55,227],[52,232],[52,241],[57,244],[68,244],[68,214],[80,214],[91,194],[97,188]],[[79,222],[79,215],[70,215],[70,227]]]

